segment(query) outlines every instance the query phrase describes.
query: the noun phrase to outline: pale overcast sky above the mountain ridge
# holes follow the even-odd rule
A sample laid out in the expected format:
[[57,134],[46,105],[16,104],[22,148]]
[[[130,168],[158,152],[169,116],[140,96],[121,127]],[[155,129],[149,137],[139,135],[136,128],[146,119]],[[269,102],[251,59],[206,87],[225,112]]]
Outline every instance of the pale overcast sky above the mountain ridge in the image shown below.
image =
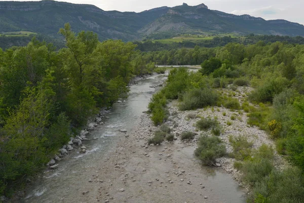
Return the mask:
[[[1,0],[0,0],[1,1]],[[7,1],[7,0],[2,0]],[[15,0],[20,1],[20,0]],[[22,1],[22,0],[21,0]],[[35,0],[34,0],[35,1]],[[266,20],[285,19],[304,24],[304,0],[58,0],[75,4],[93,4],[105,11],[141,12],[162,6],[186,3],[196,6],[204,3],[209,9],[236,15],[249,14]]]

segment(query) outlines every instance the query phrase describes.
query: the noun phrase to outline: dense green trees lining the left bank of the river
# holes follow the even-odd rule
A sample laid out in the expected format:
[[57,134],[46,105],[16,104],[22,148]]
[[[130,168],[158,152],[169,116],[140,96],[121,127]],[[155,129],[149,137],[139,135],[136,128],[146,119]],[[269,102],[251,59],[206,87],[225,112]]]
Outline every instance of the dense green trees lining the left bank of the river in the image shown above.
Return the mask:
[[0,196],[10,196],[101,107],[129,91],[132,77],[152,73],[122,41],[99,42],[91,31],[59,30],[65,48],[33,38],[0,49]]

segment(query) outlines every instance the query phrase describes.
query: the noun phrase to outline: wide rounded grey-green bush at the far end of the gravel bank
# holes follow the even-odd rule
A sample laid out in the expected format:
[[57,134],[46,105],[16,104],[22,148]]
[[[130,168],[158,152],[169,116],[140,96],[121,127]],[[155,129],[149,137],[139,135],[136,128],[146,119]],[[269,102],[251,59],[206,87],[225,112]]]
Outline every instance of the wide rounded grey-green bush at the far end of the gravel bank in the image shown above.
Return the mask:
[[183,95],[179,109],[185,111],[212,106],[216,104],[217,99],[218,95],[212,89],[192,89]]

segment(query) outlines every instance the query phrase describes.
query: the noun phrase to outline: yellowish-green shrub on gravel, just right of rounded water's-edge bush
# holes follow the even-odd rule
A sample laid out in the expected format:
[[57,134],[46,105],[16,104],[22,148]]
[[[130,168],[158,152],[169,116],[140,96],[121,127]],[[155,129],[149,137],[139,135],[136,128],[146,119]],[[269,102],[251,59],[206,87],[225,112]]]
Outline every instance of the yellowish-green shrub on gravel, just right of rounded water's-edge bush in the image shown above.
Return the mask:
[[233,156],[237,160],[244,160],[251,156],[251,147],[253,143],[248,142],[245,136],[239,136],[236,138],[230,136],[229,142],[233,147]]

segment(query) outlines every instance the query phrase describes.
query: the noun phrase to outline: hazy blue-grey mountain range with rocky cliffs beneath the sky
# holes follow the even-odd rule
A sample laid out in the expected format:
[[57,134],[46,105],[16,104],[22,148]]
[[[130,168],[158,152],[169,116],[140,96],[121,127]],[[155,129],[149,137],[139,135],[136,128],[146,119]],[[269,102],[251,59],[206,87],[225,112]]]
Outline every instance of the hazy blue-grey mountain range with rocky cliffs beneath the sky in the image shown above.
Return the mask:
[[264,20],[210,10],[204,4],[161,7],[140,13],[104,11],[93,5],[56,1],[0,2],[0,30],[32,31],[59,38],[58,30],[69,22],[75,32],[92,30],[100,40],[138,40],[180,33],[256,33],[304,36],[304,26],[286,20]]

